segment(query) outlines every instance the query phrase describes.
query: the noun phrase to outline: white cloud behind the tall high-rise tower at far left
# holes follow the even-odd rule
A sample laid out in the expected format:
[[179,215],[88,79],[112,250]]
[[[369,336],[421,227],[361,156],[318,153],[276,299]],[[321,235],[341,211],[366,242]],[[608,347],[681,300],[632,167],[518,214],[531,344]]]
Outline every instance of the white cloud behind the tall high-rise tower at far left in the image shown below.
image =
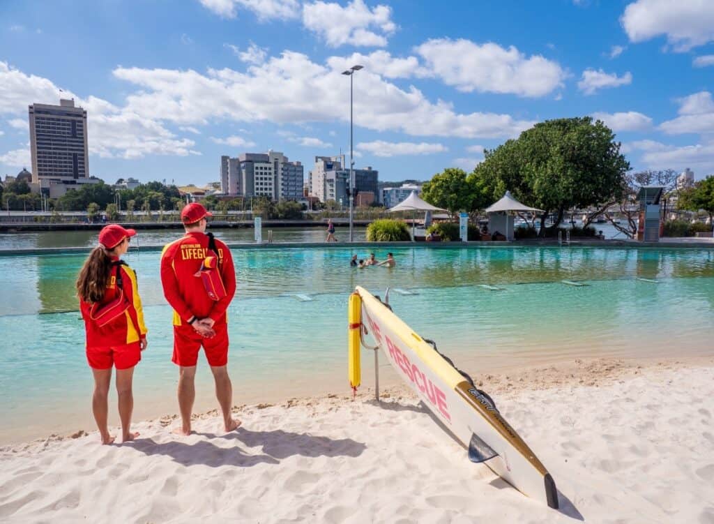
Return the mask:
[[[83,99],[67,89],[62,97],[72,97],[87,110],[89,152],[100,157],[141,158],[146,154],[190,154],[194,142],[180,139],[158,121],[139,115],[128,107],[116,107],[96,97]],[[25,74],[0,61],[0,114],[26,114],[29,104],[57,104],[59,87],[40,76]],[[17,129],[28,129],[23,119],[11,119]]]

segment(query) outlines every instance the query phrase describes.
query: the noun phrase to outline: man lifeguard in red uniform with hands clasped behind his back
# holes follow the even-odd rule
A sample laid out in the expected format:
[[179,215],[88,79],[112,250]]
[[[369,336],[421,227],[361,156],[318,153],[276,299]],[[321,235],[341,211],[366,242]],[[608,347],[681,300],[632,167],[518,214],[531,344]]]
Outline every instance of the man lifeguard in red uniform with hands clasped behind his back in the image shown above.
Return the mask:
[[[179,435],[191,434],[191,411],[196,397],[194,380],[198,350],[203,346],[206,360],[216,382],[216,397],[223,412],[223,429],[233,431],[241,425],[231,417],[233,385],[228,377],[228,323],[226,310],[236,294],[236,272],[231,252],[213,234],[206,234],[208,217],[213,216],[201,204],[183,207],[181,222],[186,235],[166,244],[161,253],[161,285],[164,296],[174,308],[174,356],[178,365],[178,407],[181,410]],[[217,263],[216,263],[217,262]],[[213,269],[206,269],[212,266]],[[209,289],[204,272],[215,271]]]

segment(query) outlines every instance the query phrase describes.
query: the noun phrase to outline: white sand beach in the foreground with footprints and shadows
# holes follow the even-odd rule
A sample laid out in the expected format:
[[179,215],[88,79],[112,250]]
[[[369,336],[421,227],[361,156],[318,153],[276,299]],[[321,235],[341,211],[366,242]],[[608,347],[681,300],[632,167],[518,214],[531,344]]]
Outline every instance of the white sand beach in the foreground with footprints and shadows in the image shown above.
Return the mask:
[[416,397],[364,387],[216,413],[177,438],[96,431],[0,448],[4,523],[714,523],[714,358],[570,362],[476,375],[550,470],[560,510],[526,498],[438,427]]

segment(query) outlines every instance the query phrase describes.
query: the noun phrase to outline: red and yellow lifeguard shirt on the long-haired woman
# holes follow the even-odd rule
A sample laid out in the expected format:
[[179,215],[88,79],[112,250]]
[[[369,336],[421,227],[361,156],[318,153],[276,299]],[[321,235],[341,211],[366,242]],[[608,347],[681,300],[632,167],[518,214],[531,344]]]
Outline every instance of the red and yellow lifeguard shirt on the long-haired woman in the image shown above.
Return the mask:
[[[118,257],[111,257],[112,262],[119,260]],[[131,307],[124,312],[124,315],[116,318],[104,327],[100,327],[89,316],[91,304],[79,300],[79,310],[84,318],[84,329],[86,330],[86,347],[116,347],[132,344],[146,338],[146,324],[144,324],[144,310],[141,307],[141,297],[139,297],[139,284],[136,282],[136,273],[127,265],[119,265],[121,271],[121,282],[124,295],[129,300]],[[109,304],[119,297],[119,287],[116,285],[116,267],[111,267],[111,279],[104,292],[100,305]]]

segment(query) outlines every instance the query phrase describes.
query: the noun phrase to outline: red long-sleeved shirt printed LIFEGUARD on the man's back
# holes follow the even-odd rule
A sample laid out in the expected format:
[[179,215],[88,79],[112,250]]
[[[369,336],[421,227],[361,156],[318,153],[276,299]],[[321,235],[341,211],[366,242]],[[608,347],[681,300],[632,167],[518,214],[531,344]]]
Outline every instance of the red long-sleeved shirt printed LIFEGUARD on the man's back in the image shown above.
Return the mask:
[[226,244],[218,239],[218,260],[221,278],[226,287],[226,296],[212,300],[196,273],[201,269],[203,259],[212,256],[208,252],[208,235],[201,232],[186,233],[186,236],[166,244],[161,252],[161,285],[164,296],[174,308],[174,325],[186,325],[191,317],[210,317],[221,325],[226,323],[226,310],[236,295],[236,271],[233,257]]

